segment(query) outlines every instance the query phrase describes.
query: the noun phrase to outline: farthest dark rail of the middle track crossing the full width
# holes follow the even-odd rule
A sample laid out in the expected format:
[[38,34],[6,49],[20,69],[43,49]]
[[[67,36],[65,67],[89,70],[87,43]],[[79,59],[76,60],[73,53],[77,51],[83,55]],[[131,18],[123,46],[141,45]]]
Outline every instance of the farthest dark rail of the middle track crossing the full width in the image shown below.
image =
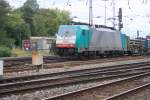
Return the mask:
[[117,66],[109,66],[109,67],[96,67],[96,68],[87,68],[87,69],[79,69],[72,71],[62,71],[55,73],[48,73],[42,75],[31,75],[31,76],[23,76],[23,77],[15,77],[15,78],[5,78],[0,80],[0,84],[9,83],[9,82],[17,82],[17,81],[27,81],[34,80],[46,77],[54,77],[54,76],[62,76],[62,75],[72,75],[72,74],[80,74],[80,73],[94,73],[94,72],[106,72],[106,71],[115,71],[115,70],[123,70],[123,69],[133,69],[133,67],[141,67],[141,66],[149,66],[149,62],[144,63],[133,63],[133,64],[125,64],[125,65],[117,65]]

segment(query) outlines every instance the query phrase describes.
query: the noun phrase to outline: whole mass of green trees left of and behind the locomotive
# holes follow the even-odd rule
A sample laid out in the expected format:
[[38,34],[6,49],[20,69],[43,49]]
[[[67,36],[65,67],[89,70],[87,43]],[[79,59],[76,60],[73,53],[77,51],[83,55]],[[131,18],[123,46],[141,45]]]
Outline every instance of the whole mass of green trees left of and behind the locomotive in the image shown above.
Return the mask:
[[0,0],[0,45],[13,48],[30,36],[54,36],[59,25],[71,22],[69,15],[59,9],[39,8],[37,0],[27,0],[18,9]]

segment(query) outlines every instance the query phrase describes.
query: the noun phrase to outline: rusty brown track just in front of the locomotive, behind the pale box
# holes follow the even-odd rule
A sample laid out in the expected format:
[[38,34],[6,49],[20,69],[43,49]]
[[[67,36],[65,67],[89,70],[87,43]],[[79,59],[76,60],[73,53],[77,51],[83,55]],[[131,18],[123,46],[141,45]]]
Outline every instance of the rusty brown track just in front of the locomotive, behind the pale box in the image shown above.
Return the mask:
[[[77,65],[84,65],[84,64],[95,64],[95,63],[103,63],[103,62],[113,62],[113,61],[122,61],[122,60],[131,60],[131,59],[140,59],[144,58],[141,56],[138,57],[117,57],[117,58],[107,58],[107,59],[96,59],[96,60],[88,60],[84,59],[82,61],[78,61],[76,58],[45,58],[44,61],[46,63],[50,63],[51,65],[45,65],[44,69],[49,68],[58,68],[58,67],[64,67],[64,64],[68,64],[69,66],[77,66]],[[12,73],[12,72],[21,72],[21,71],[30,71],[30,70],[38,70],[39,68],[37,66],[33,66],[31,64],[18,64],[16,66],[9,66],[4,67],[4,73]]]

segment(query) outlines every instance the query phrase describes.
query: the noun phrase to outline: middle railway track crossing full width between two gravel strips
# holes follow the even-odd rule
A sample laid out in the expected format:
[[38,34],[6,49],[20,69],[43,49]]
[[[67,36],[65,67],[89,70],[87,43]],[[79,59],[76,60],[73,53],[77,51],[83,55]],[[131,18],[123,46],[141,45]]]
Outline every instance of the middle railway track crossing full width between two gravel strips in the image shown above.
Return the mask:
[[[84,83],[98,80],[111,80],[116,78],[131,77],[133,75],[143,74],[150,71],[149,63],[143,64],[130,64],[130,66],[118,66],[116,68],[102,68],[78,70],[74,72],[62,72],[53,74],[55,76],[49,76],[44,78],[32,79],[32,80],[1,80],[0,83],[0,96],[24,93],[25,91],[35,91],[38,89],[45,89],[47,87],[64,86],[69,84]],[[145,66],[145,67],[144,67]],[[134,72],[133,72],[134,71]],[[31,77],[31,76],[30,76]],[[21,79],[21,78],[20,78]],[[27,77],[26,77],[27,79]]]

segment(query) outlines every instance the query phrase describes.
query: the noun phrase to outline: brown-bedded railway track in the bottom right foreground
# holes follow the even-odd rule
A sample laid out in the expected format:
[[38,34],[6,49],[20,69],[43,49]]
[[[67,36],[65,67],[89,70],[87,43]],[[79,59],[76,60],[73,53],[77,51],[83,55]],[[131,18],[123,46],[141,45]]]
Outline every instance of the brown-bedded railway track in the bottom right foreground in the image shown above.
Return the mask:
[[[124,94],[149,86],[150,72],[121,79],[108,84],[57,95],[44,100],[124,100]],[[128,92],[127,92],[128,91]]]

